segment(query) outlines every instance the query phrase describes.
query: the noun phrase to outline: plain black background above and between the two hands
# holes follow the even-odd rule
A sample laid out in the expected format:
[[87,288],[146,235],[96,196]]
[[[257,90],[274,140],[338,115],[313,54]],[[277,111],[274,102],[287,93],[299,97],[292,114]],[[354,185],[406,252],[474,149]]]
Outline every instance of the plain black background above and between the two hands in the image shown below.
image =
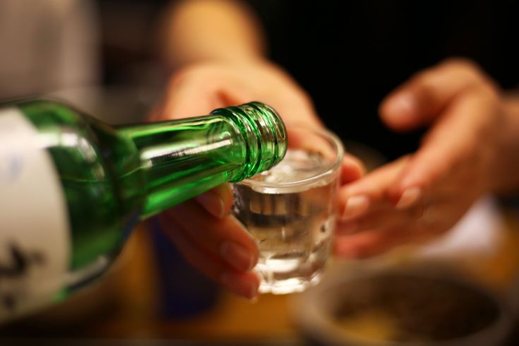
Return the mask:
[[519,83],[518,1],[253,0],[270,53],[309,91],[342,138],[393,160],[422,131],[396,134],[378,120],[383,97],[451,56],[480,64],[503,88]]

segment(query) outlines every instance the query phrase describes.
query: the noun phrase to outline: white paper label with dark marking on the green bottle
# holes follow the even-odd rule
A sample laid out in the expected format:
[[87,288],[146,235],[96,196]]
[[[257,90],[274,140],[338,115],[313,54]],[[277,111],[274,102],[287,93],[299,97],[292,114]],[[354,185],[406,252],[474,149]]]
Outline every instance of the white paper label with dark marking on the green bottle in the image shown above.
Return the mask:
[[18,109],[0,109],[0,321],[48,304],[64,286],[68,213],[45,149]]

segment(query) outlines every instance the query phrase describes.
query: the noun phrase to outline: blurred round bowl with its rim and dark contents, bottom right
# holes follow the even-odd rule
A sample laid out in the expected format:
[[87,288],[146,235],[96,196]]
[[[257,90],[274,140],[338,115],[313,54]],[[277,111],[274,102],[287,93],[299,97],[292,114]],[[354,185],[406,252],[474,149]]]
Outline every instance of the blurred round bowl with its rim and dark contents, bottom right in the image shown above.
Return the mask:
[[435,263],[345,266],[292,296],[304,338],[326,346],[501,346],[511,332],[506,298]]

